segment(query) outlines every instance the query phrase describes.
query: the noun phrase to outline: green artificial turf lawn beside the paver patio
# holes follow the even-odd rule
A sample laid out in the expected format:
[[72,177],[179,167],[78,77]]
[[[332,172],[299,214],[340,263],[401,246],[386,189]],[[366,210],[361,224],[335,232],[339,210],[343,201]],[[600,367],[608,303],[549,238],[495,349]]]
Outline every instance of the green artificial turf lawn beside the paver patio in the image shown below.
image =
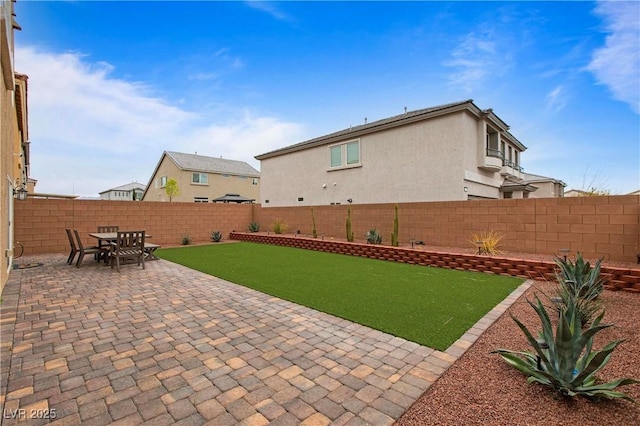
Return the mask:
[[522,283],[513,277],[254,243],[161,249],[157,255],[439,350]]

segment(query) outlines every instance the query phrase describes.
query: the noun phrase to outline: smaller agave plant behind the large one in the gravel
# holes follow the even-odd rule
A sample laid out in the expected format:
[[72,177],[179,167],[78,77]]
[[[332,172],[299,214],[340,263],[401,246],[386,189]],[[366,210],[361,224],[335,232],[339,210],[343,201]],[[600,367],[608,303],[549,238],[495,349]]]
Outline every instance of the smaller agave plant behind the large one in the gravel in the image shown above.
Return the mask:
[[560,268],[560,272],[556,276],[563,289],[585,300],[595,300],[600,296],[606,282],[600,276],[602,258],[596,261],[593,268],[589,262],[585,262],[580,252],[576,255],[575,263],[571,259],[563,259],[558,256],[554,258],[554,261]]

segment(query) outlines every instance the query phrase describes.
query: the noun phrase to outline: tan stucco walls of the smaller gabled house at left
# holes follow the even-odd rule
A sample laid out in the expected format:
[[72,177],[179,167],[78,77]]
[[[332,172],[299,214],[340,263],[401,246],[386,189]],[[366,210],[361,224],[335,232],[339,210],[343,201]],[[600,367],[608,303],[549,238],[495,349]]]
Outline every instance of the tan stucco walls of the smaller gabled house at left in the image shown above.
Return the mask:
[[143,201],[169,201],[164,188],[160,187],[160,177],[167,176],[167,180],[175,179],[180,188],[180,195],[174,197],[174,202],[193,203],[194,197],[206,197],[209,202],[228,193],[240,194],[247,198],[258,200],[260,196],[260,179],[258,184],[253,184],[253,177],[240,177],[207,173],[208,184],[191,183],[192,171],[180,170],[168,156],[164,156],[156,174],[148,184],[147,193]]

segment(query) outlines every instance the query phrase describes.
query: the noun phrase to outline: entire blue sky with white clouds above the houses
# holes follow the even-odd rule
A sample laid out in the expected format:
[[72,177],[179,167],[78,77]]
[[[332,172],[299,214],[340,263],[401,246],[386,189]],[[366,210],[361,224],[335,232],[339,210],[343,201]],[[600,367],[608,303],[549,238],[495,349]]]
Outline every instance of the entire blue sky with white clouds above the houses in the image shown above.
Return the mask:
[[18,0],[31,176],[146,184],[163,151],[243,160],[473,99],[528,173],[640,189],[640,3]]

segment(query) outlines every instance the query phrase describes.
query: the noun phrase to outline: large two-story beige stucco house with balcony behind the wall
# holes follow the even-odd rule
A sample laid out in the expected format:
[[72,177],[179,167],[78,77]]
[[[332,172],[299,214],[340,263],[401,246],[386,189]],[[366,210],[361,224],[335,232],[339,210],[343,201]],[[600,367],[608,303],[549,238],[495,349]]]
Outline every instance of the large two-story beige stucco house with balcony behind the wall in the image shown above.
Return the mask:
[[265,207],[528,198],[526,147],[472,100],[350,127],[256,156]]

